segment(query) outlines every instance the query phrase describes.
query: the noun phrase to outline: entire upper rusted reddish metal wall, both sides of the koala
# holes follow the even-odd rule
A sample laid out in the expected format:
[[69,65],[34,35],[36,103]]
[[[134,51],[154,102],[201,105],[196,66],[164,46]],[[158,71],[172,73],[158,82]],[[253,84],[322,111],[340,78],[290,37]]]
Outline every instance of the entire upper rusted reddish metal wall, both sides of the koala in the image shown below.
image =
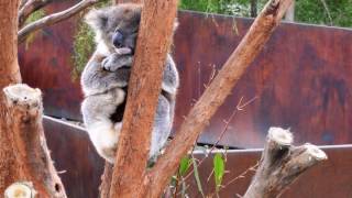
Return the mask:
[[[252,23],[195,12],[180,12],[178,19],[174,54],[182,86],[175,129]],[[81,92],[70,74],[75,28],[75,20],[46,28],[28,51],[20,51],[23,79],[43,90],[48,116],[80,119]],[[237,112],[220,144],[261,147],[272,125],[290,128],[298,143],[351,143],[351,30],[282,24],[199,141],[213,143],[240,99],[255,98]]]

